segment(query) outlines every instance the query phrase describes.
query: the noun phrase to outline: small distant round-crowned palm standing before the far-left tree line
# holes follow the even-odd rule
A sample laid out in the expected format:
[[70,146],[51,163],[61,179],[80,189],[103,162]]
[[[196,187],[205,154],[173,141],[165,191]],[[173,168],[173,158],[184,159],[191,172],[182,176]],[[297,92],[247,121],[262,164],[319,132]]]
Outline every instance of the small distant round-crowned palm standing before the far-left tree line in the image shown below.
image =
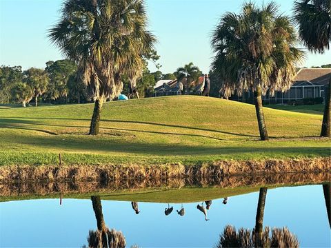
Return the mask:
[[38,97],[48,88],[49,80],[47,72],[43,69],[30,68],[23,72],[23,81],[31,87],[36,107],[38,107]]

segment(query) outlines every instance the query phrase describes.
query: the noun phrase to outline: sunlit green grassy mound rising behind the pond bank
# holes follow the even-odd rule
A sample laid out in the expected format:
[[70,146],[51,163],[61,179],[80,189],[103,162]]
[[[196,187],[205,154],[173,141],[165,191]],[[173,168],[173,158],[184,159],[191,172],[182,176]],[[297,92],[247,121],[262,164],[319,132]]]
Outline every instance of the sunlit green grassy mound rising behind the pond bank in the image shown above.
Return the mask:
[[0,165],[201,163],[330,156],[316,138],[321,114],[265,108],[272,140],[259,141],[253,105],[200,96],[106,103],[88,136],[92,104],[0,109]]

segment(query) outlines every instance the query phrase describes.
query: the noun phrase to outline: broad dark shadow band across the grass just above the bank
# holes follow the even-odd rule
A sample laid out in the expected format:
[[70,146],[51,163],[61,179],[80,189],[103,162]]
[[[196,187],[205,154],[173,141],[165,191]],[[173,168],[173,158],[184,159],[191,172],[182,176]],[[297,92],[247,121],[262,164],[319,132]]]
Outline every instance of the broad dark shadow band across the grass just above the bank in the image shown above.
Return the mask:
[[[104,137],[85,138],[82,136],[24,136],[16,134],[12,136],[6,133],[1,137],[4,141],[17,143],[19,145],[28,145],[34,149],[54,150],[62,152],[97,152],[101,154],[107,153],[124,153],[124,154],[139,154],[153,156],[223,156],[232,154],[236,158],[236,154],[243,156],[261,157],[263,154],[274,154],[281,156],[328,156],[330,147],[215,147],[210,145],[194,146],[182,145],[179,143],[139,143],[134,141],[126,141],[123,139],[109,140]],[[241,143],[238,143],[240,145]],[[254,145],[254,144],[252,144]],[[245,155],[246,154],[246,155]]]

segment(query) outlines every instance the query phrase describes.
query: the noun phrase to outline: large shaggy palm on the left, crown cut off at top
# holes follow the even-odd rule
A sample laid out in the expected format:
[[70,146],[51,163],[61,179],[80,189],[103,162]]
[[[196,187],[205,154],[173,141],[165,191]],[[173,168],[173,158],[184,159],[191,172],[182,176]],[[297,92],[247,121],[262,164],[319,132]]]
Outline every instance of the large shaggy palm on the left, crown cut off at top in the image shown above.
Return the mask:
[[50,39],[78,65],[81,80],[94,99],[90,134],[99,133],[103,101],[121,93],[121,76],[141,74],[142,56],[156,39],[146,30],[144,0],[66,0]]

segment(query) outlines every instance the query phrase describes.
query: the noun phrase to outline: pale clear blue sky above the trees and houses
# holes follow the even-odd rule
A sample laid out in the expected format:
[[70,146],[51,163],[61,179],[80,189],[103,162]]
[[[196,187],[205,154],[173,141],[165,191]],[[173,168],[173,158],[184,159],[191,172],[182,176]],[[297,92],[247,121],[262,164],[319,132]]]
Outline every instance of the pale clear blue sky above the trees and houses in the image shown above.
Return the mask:
[[[293,0],[294,1],[294,0]],[[279,0],[281,12],[291,14],[292,0]],[[0,64],[45,68],[61,59],[46,37],[60,16],[61,0],[0,0]],[[210,32],[225,12],[239,12],[242,0],[147,0],[150,30],[157,36],[163,73],[192,61],[208,72],[212,52]],[[263,3],[262,0],[255,1]],[[265,1],[267,2],[267,1]],[[331,52],[307,54],[303,66],[331,63]],[[153,66],[150,70],[154,71]]]

